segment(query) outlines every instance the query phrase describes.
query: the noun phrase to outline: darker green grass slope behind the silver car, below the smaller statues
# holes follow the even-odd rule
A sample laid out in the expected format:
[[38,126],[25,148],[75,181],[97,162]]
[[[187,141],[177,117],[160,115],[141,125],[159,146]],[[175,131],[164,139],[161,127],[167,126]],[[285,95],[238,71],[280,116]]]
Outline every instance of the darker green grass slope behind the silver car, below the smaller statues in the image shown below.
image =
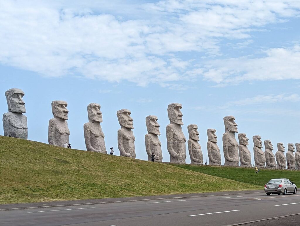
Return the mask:
[[[175,166],[175,165],[174,165]],[[288,178],[300,187],[300,171],[291,170],[268,170],[260,169],[256,174],[254,168],[237,168],[237,167],[216,167],[216,166],[196,166],[196,165],[176,165],[179,168],[208,174],[217,177],[223,177],[243,183],[263,186],[273,178]]]

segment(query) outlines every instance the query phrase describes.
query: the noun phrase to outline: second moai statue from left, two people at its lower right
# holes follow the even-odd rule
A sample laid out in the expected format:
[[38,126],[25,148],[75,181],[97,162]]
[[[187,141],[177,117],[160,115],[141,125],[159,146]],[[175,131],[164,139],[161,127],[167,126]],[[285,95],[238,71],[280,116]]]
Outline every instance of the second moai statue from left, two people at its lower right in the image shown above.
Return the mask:
[[54,100],[51,103],[53,118],[49,120],[48,142],[51,145],[64,147],[69,144],[70,130],[68,128],[68,110],[67,102],[63,100]]

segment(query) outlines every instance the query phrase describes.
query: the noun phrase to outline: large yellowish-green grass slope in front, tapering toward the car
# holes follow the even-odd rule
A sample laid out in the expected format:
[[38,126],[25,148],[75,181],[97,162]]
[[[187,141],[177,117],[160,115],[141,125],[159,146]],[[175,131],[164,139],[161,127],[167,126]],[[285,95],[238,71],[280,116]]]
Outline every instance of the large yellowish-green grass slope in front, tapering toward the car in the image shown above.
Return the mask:
[[172,165],[0,136],[0,203],[257,189]]

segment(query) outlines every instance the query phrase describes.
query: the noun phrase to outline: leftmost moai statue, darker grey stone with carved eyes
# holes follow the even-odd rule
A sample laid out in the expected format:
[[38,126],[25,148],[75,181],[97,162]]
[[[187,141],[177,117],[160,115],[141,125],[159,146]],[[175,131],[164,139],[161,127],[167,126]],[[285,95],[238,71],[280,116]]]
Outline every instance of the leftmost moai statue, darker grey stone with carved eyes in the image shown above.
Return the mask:
[[26,112],[23,101],[24,92],[13,88],[5,92],[8,112],[3,114],[4,136],[26,139],[27,117],[23,115]]

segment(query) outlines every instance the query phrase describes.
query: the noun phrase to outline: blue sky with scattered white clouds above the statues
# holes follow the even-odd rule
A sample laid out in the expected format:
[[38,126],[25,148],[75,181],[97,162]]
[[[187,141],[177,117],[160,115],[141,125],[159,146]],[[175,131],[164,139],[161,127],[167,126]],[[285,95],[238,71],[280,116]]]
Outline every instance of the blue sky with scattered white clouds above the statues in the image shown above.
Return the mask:
[[169,161],[167,106],[176,102],[187,138],[198,125],[204,161],[214,128],[224,162],[226,115],[252,155],[253,135],[287,150],[300,142],[299,10],[296,0],[1,1],[0,110],[4,92],[21,88],[28,138],[47,143],[51,102],[65,100],[70,143],[85,150],[86,108],[99,103],[107,149],[119,154],[116,111],[130,109],[138,159],[147,159],[145,117],[154,114]]

